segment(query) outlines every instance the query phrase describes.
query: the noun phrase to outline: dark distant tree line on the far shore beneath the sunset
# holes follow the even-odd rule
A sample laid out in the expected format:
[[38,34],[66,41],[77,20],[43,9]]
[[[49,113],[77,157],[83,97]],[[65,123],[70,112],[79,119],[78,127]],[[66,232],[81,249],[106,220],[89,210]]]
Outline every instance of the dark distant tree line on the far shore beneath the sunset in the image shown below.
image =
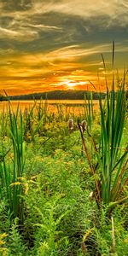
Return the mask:
[[[97,100],[99,98],[99,93],[92,92],[93,99]],[[86,90],[53,90],[43,93],[34,93],[28,95],[20,96],[10,96],[12,100],[39,100],[39,99],[48,99],[48,100],[84,100],[84,96],[87,96]],[[101,92],[100,96],[102,99],[105,98],[106,94]]]

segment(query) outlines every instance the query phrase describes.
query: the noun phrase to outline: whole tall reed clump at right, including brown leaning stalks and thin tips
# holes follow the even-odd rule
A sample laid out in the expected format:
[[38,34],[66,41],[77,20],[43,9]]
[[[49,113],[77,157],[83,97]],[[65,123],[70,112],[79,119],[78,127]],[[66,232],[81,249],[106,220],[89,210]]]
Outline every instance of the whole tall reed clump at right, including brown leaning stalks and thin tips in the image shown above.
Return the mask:
[[[102,60],[104,70],[106,71],[103,57]],[[125,200],[123,189],[128,183],[126,176],[128,145],[125,148],[125,152],[122,150],[122,137],[124,133],[126,113],[125,75],[126,73],[124,73],[122,82],[118,84],[118,90],[115,90],[114,88],[114,76],[111,90],[108,90],[108,81],[105,78],[107,87],[106,100],[102,101],[102,96],[99,96],[101,139],[98,149],[93,137],[91,137],[90,133],[87,131],[98,160],[96,166],[93,166],[92,164],[89,150],[84,141],[84,134],[79,124],[84,151],[96,183],[96,201],[98,206],[101,206],[101,203],[105,205],[111,203],[110,205],[113,206],[118,201]],[[98,176],[98,180],[96,176]]]

